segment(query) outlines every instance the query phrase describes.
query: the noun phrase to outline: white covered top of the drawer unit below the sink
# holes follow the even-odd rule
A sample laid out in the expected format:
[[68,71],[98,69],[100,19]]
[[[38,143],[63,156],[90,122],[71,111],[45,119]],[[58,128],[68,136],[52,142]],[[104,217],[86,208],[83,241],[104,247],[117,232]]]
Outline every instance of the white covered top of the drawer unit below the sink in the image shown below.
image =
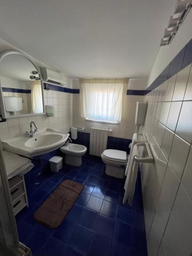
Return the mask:
[[26,174],[34,166],[34,164],[26,157],[4,151],[4,161],[8,179],[13,178],[17,174]]

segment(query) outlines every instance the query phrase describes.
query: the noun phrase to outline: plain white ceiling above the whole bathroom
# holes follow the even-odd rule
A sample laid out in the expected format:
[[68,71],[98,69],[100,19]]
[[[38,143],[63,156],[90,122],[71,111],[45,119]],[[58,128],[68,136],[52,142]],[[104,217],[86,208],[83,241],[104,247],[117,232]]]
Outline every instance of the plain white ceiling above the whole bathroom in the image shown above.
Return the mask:
[[147,77],[176,0],[1,0],[0,36],[72,77]]

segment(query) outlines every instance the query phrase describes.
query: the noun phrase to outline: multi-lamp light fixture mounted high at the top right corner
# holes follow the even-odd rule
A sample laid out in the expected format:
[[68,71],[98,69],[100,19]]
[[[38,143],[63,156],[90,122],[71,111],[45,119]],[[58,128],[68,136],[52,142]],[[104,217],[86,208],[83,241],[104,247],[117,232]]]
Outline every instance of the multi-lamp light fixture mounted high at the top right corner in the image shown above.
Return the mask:
[[165,29],[160,46],[169,45],[172,42],[179,26],[192,7],[192,0],[178,0],[174,14],[170,16],[168,27]]

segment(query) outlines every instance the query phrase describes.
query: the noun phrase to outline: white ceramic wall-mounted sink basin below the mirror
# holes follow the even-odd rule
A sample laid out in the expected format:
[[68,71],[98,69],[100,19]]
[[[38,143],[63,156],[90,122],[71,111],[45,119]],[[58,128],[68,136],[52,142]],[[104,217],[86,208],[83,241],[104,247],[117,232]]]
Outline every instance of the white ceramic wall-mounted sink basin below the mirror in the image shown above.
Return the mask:
[[34,157],[57,150],[66,143],[68,138],[69,133],[45,129],[37,132],[33,138],[22,135],[4,140],[2,145],[6,151],[26,157]]

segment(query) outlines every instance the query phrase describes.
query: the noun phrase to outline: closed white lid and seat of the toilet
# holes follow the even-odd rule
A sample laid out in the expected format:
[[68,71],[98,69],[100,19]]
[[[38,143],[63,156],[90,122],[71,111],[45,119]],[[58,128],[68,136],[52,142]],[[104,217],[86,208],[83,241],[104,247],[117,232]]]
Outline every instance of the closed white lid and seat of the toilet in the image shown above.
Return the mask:
[[102,153],[103,158],[114,162],[127,162],[127,155],[125,151],[120,150],[105,150]]

